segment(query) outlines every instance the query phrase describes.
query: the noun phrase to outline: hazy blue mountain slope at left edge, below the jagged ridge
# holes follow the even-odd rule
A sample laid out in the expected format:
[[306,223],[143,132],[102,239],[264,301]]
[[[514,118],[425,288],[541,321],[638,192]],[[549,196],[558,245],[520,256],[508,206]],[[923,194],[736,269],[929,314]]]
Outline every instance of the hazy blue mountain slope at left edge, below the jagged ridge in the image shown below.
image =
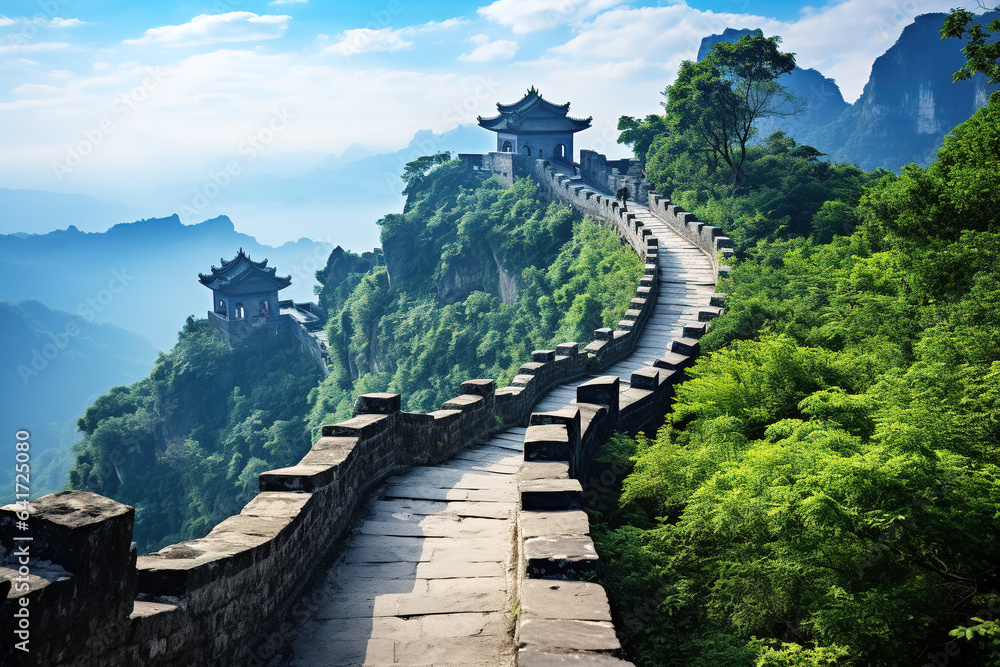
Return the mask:
[[[76,420],[110,387],[146,377],[156,350],[134,333],[37,301],[0,302],[0,331],[0,427],[31,434],[32,497],[58,491],[73,463]],[[0,502],[12,500],[13,472],[0,470]]]

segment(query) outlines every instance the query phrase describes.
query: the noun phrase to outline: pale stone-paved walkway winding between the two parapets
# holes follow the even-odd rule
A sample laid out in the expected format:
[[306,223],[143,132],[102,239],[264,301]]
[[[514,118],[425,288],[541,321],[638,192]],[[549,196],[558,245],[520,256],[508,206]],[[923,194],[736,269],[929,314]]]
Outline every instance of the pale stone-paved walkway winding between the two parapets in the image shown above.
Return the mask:
[[[634,352],[603,372],[618,376],[623,391],[632,371],[667,356],[684,326],[698,324],[715,292],[702,251],[645,206],[629,209],[658,239],[659,289]],[[575,403],[575,387],[586,379],[554,388],[535,411]],[[444,463],[390,478],[328,569],[320,608],[273,664],[514,665],[524,434],[511,428]]]

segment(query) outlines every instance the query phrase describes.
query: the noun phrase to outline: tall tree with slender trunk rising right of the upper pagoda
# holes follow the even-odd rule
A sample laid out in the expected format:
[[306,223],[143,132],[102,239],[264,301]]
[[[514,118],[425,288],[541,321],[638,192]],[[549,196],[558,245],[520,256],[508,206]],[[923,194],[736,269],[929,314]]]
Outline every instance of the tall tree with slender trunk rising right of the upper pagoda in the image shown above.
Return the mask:
[[747,183],[744,162],[757,121],[794,112],[793,96],[776,79],[795,68],[795,55],[780,52],[780,41],[744,35],[713,44],[700,62],[684,61],[664,90],[669,124],[696,133],[729,167],[734,189]]

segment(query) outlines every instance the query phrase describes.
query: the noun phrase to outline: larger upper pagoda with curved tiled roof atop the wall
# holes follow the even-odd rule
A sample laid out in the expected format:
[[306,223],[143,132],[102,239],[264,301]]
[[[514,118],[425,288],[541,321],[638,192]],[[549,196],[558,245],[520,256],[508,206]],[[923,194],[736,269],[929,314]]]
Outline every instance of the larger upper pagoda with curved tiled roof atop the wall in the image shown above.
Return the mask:
[[573,118],[569,102],[553,104],[532,86],[513,104],[497,103],[492,118],[479,116],[479,126],[497,133],[497,151],[533,158],[573,161],[573,134],[590,127],[590,118]]

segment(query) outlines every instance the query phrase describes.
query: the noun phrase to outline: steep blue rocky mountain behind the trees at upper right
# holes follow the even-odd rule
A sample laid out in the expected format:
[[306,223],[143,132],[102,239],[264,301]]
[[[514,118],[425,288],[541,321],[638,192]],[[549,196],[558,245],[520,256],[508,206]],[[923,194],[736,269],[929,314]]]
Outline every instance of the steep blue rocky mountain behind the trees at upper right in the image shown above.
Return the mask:
[[[847,104],[832,79],[812,69],[796,68],[779,79],[800,97],[802,113],[761,123],[760,137],[782,129],[799,143],[815,146],[835,162],[853,162],[865,169],[899,171],[909,163],[934,161],[944,136],[984,106],[997,86],[985,77],[952,83],[965,62],[962,42],[942,40],[945,14],[922,14],[903,29],[896,43],[872,65],[864,92]],[[977,18],[988,23],[1000,12]],[[718,41],[736,41],[760,30],[727,28],[702,40],[698,59]]]

